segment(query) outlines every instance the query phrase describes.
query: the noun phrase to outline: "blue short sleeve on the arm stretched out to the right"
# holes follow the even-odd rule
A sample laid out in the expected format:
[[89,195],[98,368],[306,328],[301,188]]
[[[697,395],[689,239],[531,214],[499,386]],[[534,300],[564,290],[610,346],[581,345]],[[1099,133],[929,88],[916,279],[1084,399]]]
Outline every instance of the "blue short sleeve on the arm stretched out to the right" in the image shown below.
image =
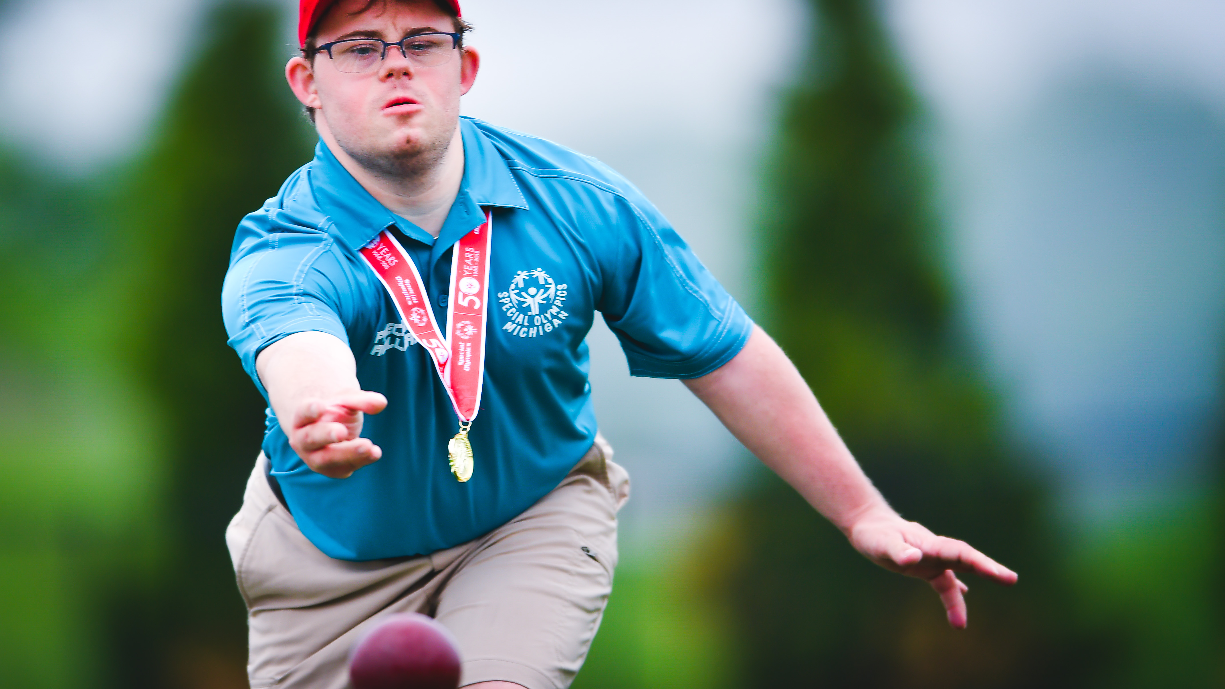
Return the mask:
[[593,242],[597,308],[632,376],[697,378],[730,361],[753,323],[663,214],[637,190],[619,198],[615,228]]

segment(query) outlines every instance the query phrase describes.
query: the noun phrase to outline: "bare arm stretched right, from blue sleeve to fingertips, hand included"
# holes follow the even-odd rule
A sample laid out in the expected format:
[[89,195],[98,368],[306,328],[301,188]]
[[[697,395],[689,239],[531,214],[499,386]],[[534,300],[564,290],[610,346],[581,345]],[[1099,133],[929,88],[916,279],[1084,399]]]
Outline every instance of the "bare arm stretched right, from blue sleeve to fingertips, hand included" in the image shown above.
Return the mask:
[[1017,574],[953,538],[907,521],[881,496],[846,449],[817,398],[783,350],[758,327],[717,371],[684,381],[758,459],[876,564],[924,579],[940,594],[948,623],[965,627],[965,584],[973,572],[1012,585]]

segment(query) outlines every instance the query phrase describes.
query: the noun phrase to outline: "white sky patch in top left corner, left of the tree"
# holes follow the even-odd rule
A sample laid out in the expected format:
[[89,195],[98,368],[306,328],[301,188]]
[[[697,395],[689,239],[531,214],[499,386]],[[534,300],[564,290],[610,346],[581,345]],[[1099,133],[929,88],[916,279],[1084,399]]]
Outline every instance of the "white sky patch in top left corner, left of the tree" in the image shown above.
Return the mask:
[[10,2],[0,15],[0,127],[6,138],[76,173],[131,151],[183,65],[198,5]]

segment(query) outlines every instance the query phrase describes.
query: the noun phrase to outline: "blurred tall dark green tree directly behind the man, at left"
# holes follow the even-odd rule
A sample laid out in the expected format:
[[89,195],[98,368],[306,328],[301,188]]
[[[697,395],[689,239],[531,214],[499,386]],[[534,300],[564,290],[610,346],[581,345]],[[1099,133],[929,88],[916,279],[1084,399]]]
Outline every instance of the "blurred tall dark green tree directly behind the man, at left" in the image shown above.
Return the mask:
[[216,6],[148,149],[114,188],[114,356],[156,400],[168,486],[167,564],[154,585],[109,598],[116,687],[245,685],[245,613],[223,534],[265,404],[225,345],[219,295],[235,225],[311,155],[279,76],[279,26],[271,5]]

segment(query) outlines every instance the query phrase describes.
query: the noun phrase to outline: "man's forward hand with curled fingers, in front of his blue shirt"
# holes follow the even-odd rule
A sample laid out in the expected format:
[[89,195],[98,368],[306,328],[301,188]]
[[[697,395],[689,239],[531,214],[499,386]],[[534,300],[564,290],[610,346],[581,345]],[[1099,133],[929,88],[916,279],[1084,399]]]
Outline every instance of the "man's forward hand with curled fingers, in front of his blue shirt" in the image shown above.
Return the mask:
[[323,476],[348,479],[382,456],[379,445],[361,437],[361,421],[364,414],[379,414],[386,406],[387,398],[365,390],[303,400],[285,430],[289,447]]

